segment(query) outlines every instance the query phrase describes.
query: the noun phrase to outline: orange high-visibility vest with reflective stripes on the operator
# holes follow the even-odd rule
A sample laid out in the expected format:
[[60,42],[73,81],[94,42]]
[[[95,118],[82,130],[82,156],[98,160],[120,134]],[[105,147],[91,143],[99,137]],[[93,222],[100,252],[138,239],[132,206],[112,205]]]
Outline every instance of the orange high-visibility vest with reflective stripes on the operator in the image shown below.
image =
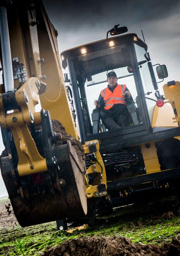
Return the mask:
[[125,84],[118,84],[113,92],[111,92],[108,87],[102,90],[101,96],[104,99],[104,108],[110,109],[114,104],[126,105],[125,97],[123,96],[125,90]]

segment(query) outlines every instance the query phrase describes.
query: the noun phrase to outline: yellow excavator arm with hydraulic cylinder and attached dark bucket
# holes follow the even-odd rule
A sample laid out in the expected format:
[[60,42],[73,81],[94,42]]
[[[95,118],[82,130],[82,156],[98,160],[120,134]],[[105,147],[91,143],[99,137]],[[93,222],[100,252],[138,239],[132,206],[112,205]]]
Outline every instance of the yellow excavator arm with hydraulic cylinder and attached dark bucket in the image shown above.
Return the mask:
[[1,3],[0,37],[0,168],[16,218],[24,227],[84,215],[84,161],[52,126],[56,119],[78,138],[42,1]]

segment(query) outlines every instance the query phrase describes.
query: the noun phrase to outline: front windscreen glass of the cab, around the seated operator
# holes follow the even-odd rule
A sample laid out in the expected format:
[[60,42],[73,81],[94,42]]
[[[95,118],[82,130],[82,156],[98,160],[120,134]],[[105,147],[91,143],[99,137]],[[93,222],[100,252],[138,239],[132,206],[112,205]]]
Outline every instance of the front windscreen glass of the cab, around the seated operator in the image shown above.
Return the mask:
[[[97,42],[93,45],[94,48],[91,48],[91,45],[87,45],[86,48],[77,49],[81,54],[71,57],[76,74],[75,80],[78,81],[79,99],[86,127],[92,124],[91,114],[93,109],[95,109],[94,100],[98,100],[101,90],[108,86],[107,73],[112,70],[117,75],[117,84],[126,85],[133,98],[131,104],[135,109],[133,111],[135,112],[134,115],[136,115],[136,122],[133,121],[131,113],[127,110],[125,128],[143,123],[138,102],[140,97],[137,97],[138,93],[136,90],[138,81],[135,82],[133,71],[130,69],[133,62],[131,44],[132,37],[127,37],[127,40],[123,37],[117,38],[117,41],[114,41],[114,44],[111,45],[108,45],[106,41]],[[100,129],[97,133],[103,131],[107,131],[107,128],[105,130]],[[87,127],[86,134],[89,132],[92,133],[92,129]]]

